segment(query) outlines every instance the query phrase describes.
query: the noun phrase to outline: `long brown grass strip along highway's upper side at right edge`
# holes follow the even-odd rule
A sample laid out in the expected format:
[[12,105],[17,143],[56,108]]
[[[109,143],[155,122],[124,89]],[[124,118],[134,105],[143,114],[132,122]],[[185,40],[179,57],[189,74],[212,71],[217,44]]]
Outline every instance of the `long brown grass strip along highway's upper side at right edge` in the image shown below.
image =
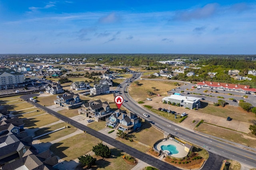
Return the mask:
[[196,130],[206,133],[206,134],[210,134],[210,135],[214,135],[220,138],[224,138],[227,140],[230,140],[232,142],[236,142],[236,143],[240,143],[240,144],[244,144],[246,146],[250,146],[252,148],[256,147],[256,137],[254,136],[250,136],[250,135],[246,135],[246,134],[241,134],[239,132],[234,132],[232,130],[228,130],[225,128],[220,128],[220,127],[215,127],[212,125],[207,125],[205,123],[202,123],[201,125],[199,125],[197,128],[195,128]]

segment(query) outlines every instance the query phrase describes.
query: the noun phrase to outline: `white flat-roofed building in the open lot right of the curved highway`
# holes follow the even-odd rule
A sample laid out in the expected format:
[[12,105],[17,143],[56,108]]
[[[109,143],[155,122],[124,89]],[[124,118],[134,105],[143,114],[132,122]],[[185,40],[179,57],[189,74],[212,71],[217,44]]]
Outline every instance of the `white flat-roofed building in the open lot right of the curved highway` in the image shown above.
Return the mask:
[[200,108],[200,99],[198,97],[182,96],[182,95],[170,95],[164,97],[162,102],[170,102],[171,104],[180,104],[188,109]]

